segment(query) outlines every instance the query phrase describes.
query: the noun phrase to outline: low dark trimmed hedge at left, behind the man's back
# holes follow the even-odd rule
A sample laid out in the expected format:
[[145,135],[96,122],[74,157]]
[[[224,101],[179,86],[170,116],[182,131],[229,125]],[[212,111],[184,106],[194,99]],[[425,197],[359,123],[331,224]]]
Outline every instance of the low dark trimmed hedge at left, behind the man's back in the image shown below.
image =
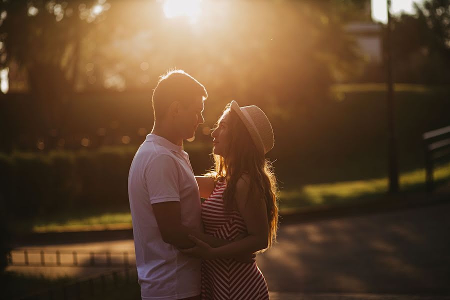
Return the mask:
[[[72,210],[128,209],[128,171],[135,150],[105,147],[0,155],[0,176],[4,178],[0,180],[0,207],[15,219]],[[209,166],[208,151],[189,151],[198,161],[196,173]]]

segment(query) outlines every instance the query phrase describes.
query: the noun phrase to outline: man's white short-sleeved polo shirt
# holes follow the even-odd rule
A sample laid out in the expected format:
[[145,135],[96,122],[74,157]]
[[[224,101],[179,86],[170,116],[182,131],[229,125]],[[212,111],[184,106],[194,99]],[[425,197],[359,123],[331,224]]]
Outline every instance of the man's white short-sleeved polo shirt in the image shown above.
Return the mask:
[[167,139],[148,134],[128,175],[128,198],[142,299],[179,299],[200,293],[200,260],[165,243],[152,203],[179,201],[181,224],[202,231],[198,185],[189,156]]

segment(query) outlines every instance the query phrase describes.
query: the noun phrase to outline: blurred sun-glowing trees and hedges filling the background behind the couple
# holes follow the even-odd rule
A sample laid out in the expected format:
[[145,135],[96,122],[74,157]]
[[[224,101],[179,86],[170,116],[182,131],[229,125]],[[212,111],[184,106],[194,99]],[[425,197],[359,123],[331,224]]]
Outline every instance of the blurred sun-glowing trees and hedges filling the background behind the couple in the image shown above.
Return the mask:
[[[268,158],[282,190],[386,175],[385,64],[346,30],[371,22],[370,1],[204,0],[201,12],[178,17],[166,3],[0,3],[9,78],[0,184],[11,215],[127,210],[129,163],[153,123],[152,89],[172,67],[209,94],[205,123],[185,144],[196,174],[211,166],[210,128],[234,99],[271,120]],[[450,120],[449,5],[427,0],[393,19],[394,79],[405,83],[395,92],[401,171],[423,167],[421,133]]]

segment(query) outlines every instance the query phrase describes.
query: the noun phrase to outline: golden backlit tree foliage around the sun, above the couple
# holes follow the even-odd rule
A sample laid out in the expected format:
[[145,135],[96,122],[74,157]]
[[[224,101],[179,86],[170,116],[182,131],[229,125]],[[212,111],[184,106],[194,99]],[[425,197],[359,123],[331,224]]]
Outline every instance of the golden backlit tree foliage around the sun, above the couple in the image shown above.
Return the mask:
[[27,75],[43,115],[36,137],[56,139],[74,90],[151,91],[171,67],[219,98],[214,114],[234,98],[289,118],[326,103],[336,75],[353,73],[359,60],[338,2],[319,2],[204,1],[205,13],[191,24],[164,17],[156,0],[111,0],[101,13],[94,0],[7,1],[1,63],[17,63]]

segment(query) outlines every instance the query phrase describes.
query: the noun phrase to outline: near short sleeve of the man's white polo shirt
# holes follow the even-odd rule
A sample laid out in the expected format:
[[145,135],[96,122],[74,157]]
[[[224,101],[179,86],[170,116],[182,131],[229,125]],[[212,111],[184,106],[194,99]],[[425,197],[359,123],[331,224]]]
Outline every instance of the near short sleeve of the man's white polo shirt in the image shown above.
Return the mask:
[[177,165],[169,155],[158,155],[148,162],[145,183],[151,204],[179,201]]

